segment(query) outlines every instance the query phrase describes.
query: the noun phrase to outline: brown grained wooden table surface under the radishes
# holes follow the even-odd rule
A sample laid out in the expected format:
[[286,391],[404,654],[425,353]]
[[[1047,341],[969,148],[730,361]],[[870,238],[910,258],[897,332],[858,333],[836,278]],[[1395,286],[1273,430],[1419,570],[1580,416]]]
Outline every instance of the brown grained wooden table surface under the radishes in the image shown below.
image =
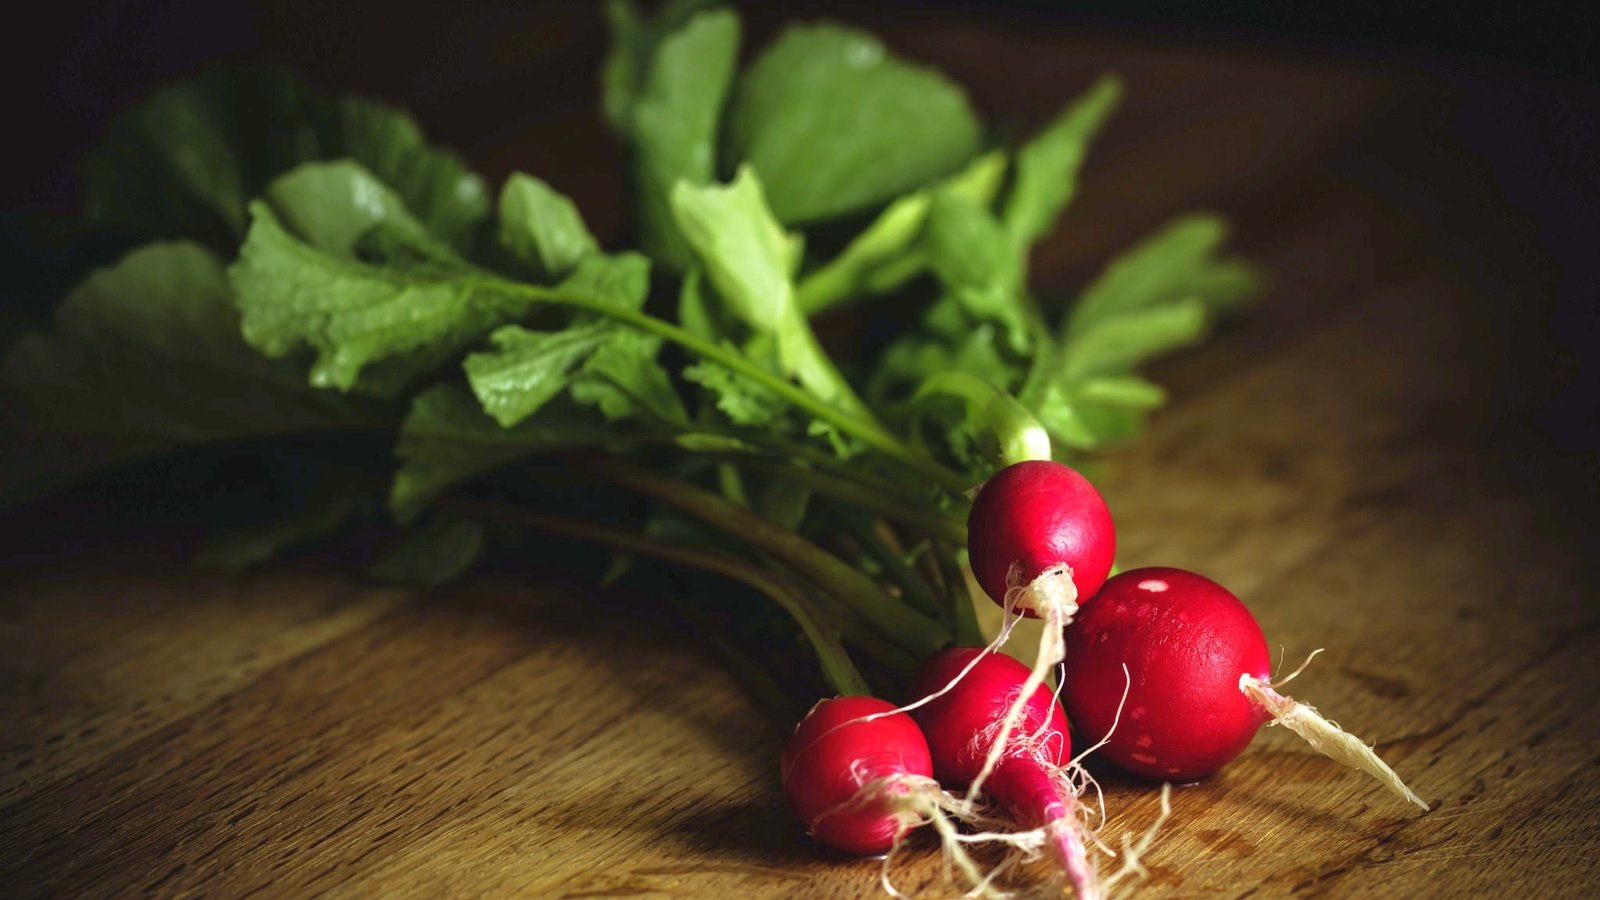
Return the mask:
[[[493,176],[547,176],[616,235],[594,13],[485,10],[432,43],[400,16],[386,48],[344,40],[362,10],[274,6],[258,27],[314,77],[411,106]],[[1563,141],[1592,139],[1594,93],[850,16],[1018,128],[1093,72],[1126,75],[1035,261],[1043,293],[1192,207],[1234,216],[1235,245],[1277,275],[1269,303],[1162,370],[1171,408],[1098,472],[1120,556],[1230,585],[1291,660],[1326,647],[1296,693],[1376,740],[1434,809],[1269,729],[1174,793],[1142,894],[1592,892],[1600,466],[1592,407],[1563,384],[1594,372],[1573,351],[1592,338],[1595,215],[1592,163]],[[597,613],[581,575],[421,596],[331,559],[219,577],[160,535],[45,535],[16,538],[0,580],[3,895],[878,892],[875,862],[827,858],[790,820],[781,735],[734,681]],[[1109,836],[1155,814],[1149,786],[1106,791]],[[923,846],[894,876],[939,889]]]

